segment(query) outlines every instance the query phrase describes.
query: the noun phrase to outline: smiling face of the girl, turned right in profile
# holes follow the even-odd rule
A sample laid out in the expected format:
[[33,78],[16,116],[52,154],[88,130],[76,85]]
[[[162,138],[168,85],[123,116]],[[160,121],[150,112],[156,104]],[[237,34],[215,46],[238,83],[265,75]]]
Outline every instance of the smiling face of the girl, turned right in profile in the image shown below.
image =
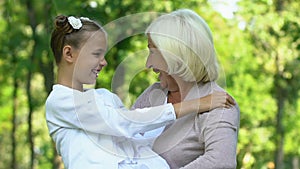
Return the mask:
[[101,31],[93,32],[87,42],[82,44],[77,51],[73,86],[96,83],[99,72],[107,65],[104,58],[106,49],[106,35]]

